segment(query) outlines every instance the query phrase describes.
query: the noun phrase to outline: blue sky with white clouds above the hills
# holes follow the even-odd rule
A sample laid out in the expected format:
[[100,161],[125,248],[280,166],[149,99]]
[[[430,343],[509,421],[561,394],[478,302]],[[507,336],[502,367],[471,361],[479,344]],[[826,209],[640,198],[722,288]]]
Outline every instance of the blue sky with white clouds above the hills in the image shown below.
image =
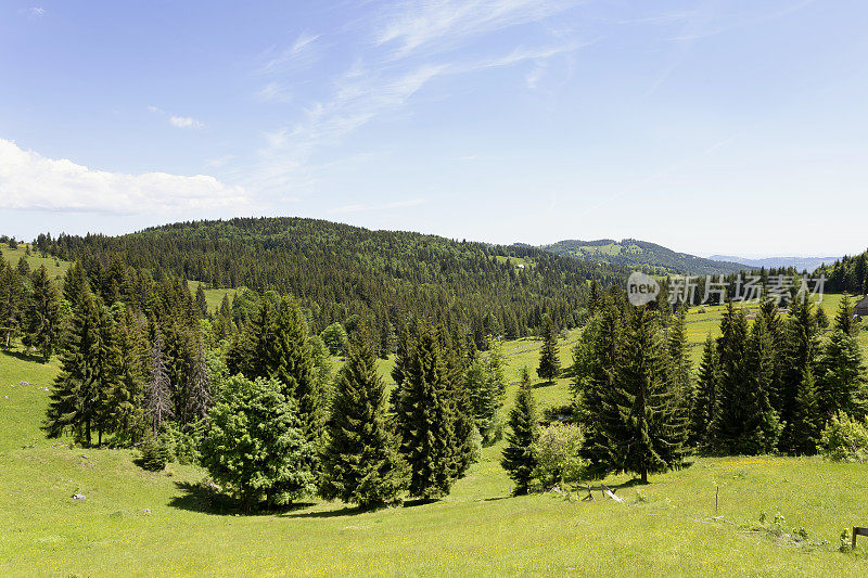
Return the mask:
[[0,2],[0,231],[861,252],[868,4]]

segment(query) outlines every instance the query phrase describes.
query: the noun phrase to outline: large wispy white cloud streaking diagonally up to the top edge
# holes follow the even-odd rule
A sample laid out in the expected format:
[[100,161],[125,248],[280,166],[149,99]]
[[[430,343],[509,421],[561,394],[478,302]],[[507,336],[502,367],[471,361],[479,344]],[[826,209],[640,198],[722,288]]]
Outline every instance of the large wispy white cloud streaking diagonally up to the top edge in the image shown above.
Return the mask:
[[[518,82],[537,85],[547,60],[587,44],[569,38],[551,38],[536,44],[525,41],[501,53],[468,56],[456,49],[485,35],[513,26],[538,23],[576,1],[564,0],[414,0],[384,8],[363,24],[362,37],[370,44],[359,47],[356,60],[333,77],[329,94],[301,108],[301,117],[265,134],[260,162],[252,172],[252,188],[297,187],[309,182],[316,171],[311,155],[345,141],[378,118],[399,114],[412,98],[438,78],[477,73],[486,68],[534,63],[534,70]],[[539,30],[537,30],[539,33]],[[539,36],[538,34],[534,36]],[[545,35],[544,35],[545,36]],[[557,35],[556,35],[557,36]],[[529,37],[533,38],[533,37]],[[289,49],[270,51],[259,73],[269,84],[257,97],[289,101],[291,65],[305,63],[320,42],[316,35],[299,36]],[[299,103],[293,100],[295,111]]]

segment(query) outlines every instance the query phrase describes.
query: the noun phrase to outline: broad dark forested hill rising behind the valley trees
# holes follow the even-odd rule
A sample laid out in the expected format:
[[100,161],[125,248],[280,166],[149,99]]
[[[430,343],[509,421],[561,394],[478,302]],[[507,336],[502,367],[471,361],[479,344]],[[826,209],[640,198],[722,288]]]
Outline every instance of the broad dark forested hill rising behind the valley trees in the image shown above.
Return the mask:
[[436,314],[476,335],[525,335],[546,312],[570,327],[588,280],[610,285],[627,274],[534,247],[303,218],[182,222],[122,236],[64,234],[50,243],[52,253],[86,267],[107,267],[119,254],[154,277],[289,293],[310,309],[316,331],[354,313],[384,333],[407,313]]

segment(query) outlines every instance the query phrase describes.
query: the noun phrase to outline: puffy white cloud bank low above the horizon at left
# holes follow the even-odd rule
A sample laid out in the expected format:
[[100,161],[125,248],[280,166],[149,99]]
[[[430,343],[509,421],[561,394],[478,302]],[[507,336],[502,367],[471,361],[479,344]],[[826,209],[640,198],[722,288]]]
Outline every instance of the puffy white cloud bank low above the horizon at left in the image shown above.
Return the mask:
[[4,139],[0,139],[0,197],[4,208],[12,209],[173,218],[213,209],[240,213],[254,206],[243,188],[206,175],[94,170],[67,159],[46,158]]

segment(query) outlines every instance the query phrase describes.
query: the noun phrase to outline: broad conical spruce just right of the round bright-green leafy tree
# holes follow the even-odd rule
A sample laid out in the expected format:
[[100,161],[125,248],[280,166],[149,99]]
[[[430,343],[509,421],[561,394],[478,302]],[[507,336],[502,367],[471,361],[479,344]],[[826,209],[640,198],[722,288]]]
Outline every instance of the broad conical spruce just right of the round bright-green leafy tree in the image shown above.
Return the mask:
[[328,446],[322,455],[321,494],[372,508],[397,497],[404,464],[385,414],[385,386],[367,345],[354,347],[337,376]]

